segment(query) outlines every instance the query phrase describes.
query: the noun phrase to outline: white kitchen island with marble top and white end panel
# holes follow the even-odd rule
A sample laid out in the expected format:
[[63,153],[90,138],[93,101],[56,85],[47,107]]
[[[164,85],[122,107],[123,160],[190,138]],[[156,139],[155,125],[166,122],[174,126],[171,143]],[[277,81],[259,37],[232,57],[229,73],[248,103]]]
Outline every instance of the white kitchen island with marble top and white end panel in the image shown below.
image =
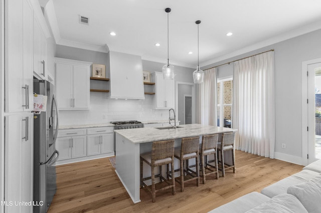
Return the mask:
[[175,139],[175,146],[181,145],[181,138],[235,131],[236,129],[202,124],[179,125],[178,128],[146,127],[119,129],[115,131],[116,173],[134,203],[140,202],[139,155],[151,150],[151,142]]

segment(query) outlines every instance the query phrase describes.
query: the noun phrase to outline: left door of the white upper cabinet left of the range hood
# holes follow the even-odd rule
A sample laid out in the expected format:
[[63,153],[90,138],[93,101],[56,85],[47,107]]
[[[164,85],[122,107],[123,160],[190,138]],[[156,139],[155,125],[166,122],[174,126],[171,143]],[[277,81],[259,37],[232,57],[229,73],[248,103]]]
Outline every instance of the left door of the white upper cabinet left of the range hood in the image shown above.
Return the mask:
[[56,94],[59,109],[73,106],[73,65],[56,63]]

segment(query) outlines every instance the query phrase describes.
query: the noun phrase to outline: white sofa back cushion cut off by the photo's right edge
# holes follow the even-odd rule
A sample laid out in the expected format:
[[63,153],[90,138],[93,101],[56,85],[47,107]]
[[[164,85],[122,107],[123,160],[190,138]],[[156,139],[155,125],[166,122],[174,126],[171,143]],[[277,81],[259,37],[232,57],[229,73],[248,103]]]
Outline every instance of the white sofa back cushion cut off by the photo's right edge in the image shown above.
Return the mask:
[[287,192],[296,196],[308,212],[321,212],[321,174],[288,187]]

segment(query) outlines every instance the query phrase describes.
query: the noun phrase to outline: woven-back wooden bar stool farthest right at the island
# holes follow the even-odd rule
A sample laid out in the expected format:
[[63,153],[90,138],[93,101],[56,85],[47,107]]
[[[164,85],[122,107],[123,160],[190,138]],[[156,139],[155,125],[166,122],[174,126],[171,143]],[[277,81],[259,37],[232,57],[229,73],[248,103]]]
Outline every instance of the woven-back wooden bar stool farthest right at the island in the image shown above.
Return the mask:
[[[218,142],[217,151],[221,154],[221,159],[218,160],[221,163],[221,168],[219,168],[223,177],[225,176],[225,169],[233,168],[233,173],[235,173],[235,132],[224,132],[222,133],[222,141]],[[232,165],[224,162],[224,151],[232,151]]]

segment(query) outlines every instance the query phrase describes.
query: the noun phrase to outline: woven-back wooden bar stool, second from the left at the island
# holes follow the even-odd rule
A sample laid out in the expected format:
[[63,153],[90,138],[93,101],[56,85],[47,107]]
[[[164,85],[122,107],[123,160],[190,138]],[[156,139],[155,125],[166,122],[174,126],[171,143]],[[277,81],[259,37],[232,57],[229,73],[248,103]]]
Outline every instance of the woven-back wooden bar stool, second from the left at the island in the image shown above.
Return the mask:
[[[189,159],[195,158],[196,165],[199,165],[199,144],[200,137],[184,137],[182,138],[181,147],[175,148],[174,156],[180,160],[181,175],[176,178],[176,181],[181,184],[181,191],[184,191],[184,182],[196,179],[197,186],[200,184],[199,166],[196,166],[196,171],[189,168]],[[184,161],[186,167],[184,168]],[[186,174],[186,175],[185,175]],[[172,173],[172,175],[174,175]]]

